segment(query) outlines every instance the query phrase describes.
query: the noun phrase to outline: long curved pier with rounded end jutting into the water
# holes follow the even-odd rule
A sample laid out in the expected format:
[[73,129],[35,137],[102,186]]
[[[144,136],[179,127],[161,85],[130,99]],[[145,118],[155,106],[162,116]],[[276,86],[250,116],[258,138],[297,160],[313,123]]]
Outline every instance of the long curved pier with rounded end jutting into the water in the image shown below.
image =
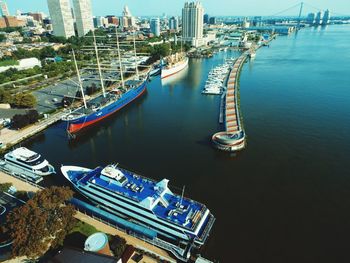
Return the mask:
[[[224,101],[224,109],[220,106],[220,123],[225,125],[225,131],[218,132],[212,136],[212,141],[216,148],[234,152],[245,147],[245,132],[240,119],[240,110],[238,102],[238,78],[244,62],[247,59],[246,54],[242,54],[233,64],[227,80],[227,90]],[[224,118],[224,120],[223,120]]]

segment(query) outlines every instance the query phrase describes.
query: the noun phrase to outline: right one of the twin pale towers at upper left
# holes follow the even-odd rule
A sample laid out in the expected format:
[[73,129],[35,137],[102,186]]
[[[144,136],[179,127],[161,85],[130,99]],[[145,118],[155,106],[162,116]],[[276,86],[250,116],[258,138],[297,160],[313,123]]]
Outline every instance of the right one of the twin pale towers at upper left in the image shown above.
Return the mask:
[[89,31],[94,30],[91,0],[73,0],[73,6],[78,36],[85,36]]

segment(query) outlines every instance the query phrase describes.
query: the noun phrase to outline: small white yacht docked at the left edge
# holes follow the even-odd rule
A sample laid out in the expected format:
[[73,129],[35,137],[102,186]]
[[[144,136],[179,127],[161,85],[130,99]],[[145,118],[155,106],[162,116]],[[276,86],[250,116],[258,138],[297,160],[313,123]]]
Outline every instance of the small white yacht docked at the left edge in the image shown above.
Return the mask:
[[55,168],[39,153],[25,147],[17,148],[4,156],[3,165],[30,172],[37,176],[45,176],[55,173]]

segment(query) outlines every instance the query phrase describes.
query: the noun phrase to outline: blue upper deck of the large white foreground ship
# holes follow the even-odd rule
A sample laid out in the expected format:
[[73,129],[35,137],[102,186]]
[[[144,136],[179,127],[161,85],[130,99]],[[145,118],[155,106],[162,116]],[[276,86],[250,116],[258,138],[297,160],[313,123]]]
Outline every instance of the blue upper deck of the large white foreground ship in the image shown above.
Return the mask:
[[[90,172],[70,171],[68,173],[73,183],[87,186],[88,183],[104,188],[111,193],[125,196],[135,202],[142,202],[148,197],[154,200],[160,199],[152,209],[159,218],[181,225],[188,229],[193,229],[202,218],[206,207],[188,198],[181,198],[179,195],[166,192],[162,197],[164,189],[161,189],[156,181],[141,177],[130,171],[118,168],[123,172],[127,182],[122,186],[113,183],[105,176],[101,175],[103,168],[97,167]],[[166,205],[164,205],[164,203]],[[166,206],[166,207],[165,207]]]

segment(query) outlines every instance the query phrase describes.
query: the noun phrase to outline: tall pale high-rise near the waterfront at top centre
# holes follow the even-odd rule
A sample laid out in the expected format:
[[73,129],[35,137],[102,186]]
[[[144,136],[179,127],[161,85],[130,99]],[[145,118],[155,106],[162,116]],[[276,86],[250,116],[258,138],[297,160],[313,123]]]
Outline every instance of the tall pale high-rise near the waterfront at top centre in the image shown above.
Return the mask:
[[182,9],[182,37],[194,47],[204,44],[203,15],[204,8],[200,2],[186,2]]

